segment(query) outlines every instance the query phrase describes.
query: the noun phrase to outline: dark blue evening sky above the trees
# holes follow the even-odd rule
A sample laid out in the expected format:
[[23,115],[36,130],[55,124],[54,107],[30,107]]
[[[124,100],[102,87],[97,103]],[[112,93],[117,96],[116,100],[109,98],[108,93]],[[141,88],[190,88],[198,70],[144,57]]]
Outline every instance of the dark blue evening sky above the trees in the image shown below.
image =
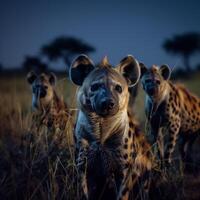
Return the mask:
[[96,47],[95,61],[108,55],[117,64],[133,54],[148,65],[181,65],[161,45],[188,31],[200,32],[198,0],[0,0],[0,63],[20,66],[25,55],[68,35]]

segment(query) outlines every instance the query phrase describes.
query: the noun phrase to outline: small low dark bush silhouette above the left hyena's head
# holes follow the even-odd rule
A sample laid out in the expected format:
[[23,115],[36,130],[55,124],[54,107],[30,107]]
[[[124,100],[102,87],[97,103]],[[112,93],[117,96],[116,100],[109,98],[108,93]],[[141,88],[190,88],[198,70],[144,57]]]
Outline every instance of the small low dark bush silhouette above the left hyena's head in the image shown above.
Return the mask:
[[47,65],[36,56],[26,56],[22,65],[25,71],[34,70],[36,73],[45,72],[48,68]]

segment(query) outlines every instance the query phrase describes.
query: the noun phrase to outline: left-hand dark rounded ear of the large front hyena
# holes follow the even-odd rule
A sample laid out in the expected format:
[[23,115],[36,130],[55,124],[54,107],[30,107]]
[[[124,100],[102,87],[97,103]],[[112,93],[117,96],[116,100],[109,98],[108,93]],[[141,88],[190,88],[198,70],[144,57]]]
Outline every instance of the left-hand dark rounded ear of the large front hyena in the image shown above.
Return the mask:
[[76,85],[82,85],[88,74],[94,69],[94,64],[86,55],[78,56],[69,70],[71,81]]

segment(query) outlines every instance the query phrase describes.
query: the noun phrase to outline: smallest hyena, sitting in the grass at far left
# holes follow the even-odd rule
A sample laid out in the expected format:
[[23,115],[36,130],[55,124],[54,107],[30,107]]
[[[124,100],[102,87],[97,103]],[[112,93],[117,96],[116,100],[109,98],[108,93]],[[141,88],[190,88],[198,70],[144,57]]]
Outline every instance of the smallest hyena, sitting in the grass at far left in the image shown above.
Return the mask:
[[56,91],[56,76],[54,73],[27,75],[27,81],[32,87],[32,130],[39,132],[46,127],[53,135],[53,142],[63,146],[72,145],[72,116],[66,103],[61,100]]

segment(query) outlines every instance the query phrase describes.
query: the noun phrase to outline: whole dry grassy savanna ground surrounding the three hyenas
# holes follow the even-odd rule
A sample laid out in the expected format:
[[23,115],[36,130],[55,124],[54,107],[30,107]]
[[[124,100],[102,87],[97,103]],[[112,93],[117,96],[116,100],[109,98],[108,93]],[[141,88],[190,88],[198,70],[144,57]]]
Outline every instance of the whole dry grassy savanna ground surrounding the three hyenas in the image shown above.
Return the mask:
[[[176,81],[200,96],[199,73]],[[56,91],[73,113],[76,89],[64,75],[58,77]],[[1,76],[0,96],[0,199],[79,199],[73,148],[52,147],[46,130],[39,130],[37,137],[31,131],[31,88],[26,75]],[[141,88],[134,109],[148,134]],[[174,160],[177,166],[168,175],[159,173],[152,199],[200,199],[200,140],[194,145],[194,170],[183,174],[179,154]]]

